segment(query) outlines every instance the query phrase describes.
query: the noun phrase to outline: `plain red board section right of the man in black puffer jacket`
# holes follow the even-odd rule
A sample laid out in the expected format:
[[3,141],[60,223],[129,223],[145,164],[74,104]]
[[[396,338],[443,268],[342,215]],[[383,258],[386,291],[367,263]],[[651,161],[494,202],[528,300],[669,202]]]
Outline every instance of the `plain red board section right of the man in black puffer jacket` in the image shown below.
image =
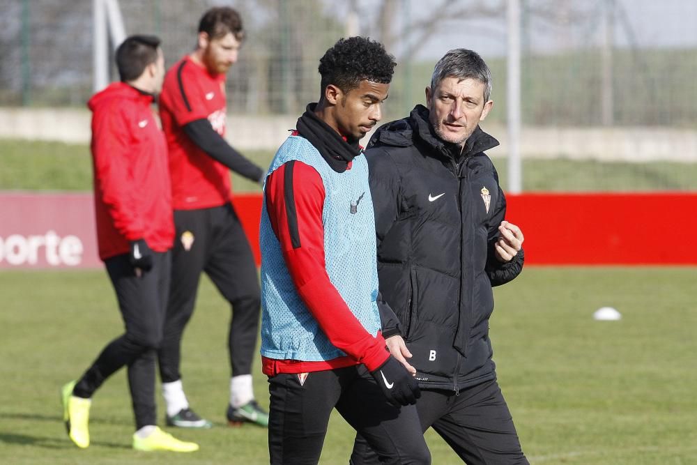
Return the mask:
[[697,193],[507,195],[530,265],[697,265]]

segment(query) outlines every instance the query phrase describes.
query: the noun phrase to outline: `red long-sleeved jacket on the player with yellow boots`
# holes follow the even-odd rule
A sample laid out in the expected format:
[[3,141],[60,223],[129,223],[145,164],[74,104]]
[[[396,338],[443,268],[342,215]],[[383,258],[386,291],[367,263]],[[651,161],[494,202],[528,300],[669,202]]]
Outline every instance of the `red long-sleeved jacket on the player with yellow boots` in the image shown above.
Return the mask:
[[152,102],[153,96],[116,82],[88,103],[102,260],[128,253],[130,241],[141,238],[155,252],[174,243],[167,145]]

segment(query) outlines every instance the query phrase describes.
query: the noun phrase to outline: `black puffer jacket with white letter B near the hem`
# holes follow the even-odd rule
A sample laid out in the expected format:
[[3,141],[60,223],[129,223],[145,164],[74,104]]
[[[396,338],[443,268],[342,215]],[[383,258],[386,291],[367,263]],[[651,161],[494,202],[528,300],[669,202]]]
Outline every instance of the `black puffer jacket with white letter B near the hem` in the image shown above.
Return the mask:
[[422,388],[457,392],[496,377],[491,287],[519,275],[523,252],[507,264],[493,253],[506,200],[483,151],[498,141],[477,127],[460,153],[428,115],[418,105],[383,125],[365,152],[380,289],[394,311],[381,305],[381,317],[385,336],[404,336]]

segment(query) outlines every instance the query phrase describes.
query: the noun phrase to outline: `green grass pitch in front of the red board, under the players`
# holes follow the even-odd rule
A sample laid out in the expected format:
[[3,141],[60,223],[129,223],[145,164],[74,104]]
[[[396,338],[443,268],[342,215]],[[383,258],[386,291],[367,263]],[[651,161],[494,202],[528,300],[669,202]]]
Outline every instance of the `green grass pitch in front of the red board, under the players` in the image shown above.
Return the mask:
[[[497,288],[491,339],[500,385],[532,464],[697,464],[696,268],[528,267]],[[0,462],[3,464],[265,464],[266,430],[229,428],[229,310],[204,279],[184,340],[192,406],[215,422],[174,430],[193,455],[135,452],[121,371],[94,399],[92,445],[77,449],[59,387],[121,331],[103,270],[0,273]],[[611,305],[621,321],[593,321]],[[266,380],[254,387],[268,406]],[[158,388],[160,425],[162,400]],[[346,464],[353,432],[332,417],[321,464]],[[434,464],[457,464],[432,432]]]

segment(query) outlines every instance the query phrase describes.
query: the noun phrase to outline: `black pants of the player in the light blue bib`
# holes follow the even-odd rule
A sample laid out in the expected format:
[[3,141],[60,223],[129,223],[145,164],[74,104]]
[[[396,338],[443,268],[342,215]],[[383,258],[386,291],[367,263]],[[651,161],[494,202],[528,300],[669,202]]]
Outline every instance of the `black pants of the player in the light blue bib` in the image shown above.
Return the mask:
[[337,409],[381,455],[385,464],[430,464],[431,455],[413,405],[388,404],[364,365],[269,378],[270,463],[316,464],[330,413]]

